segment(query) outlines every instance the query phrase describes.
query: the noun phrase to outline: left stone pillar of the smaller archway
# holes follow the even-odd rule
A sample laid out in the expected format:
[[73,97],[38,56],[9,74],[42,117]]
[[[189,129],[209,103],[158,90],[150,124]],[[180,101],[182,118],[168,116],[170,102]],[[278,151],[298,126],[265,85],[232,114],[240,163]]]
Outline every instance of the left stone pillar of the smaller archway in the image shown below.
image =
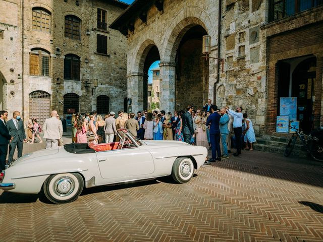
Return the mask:
[[132,72],[127,75],[128,98],[131,98],[132,112],[143,109],[143,73]]

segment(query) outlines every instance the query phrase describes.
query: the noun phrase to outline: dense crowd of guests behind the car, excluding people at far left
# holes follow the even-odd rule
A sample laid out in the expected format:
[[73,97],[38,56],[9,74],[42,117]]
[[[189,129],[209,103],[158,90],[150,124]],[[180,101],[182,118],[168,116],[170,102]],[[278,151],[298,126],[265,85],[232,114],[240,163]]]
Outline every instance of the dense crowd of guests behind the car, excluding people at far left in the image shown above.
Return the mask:
[[[236,147],[234,156],[241,155],[243,150],[253,150],[255,134],[251,120],[243,108],[231,110],[229,107],[218,109],[211,100],[201,108],[194,109],[188,105],[186,110],[166,112],[161,110],[138,111],[101,115],[93,111],[91,114],[74,114],[72,117],[73,142],[77,143],[111,143],[118,141],[116,135],[120,128],[128,129],[134,136],[142,140],[176,140],[191,145],[204,146],[212,150],[208,162],[229,158],[231,139]],[[118,115],[118,117],[116,117]]]

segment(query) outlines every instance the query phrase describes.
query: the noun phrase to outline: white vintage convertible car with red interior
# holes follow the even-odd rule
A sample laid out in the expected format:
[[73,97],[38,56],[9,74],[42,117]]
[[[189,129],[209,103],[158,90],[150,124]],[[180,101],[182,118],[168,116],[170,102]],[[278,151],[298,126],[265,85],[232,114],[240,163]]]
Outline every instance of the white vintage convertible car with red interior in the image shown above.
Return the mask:
[[120,142],[67,144],[22,156],[0,174],[0,188],[15,193],[43,190],[53,203],[72,202],[83,187],[119,184],[172,174],[186,183],[207,156],[201,146],[180,141],[141,141],[118,130]]

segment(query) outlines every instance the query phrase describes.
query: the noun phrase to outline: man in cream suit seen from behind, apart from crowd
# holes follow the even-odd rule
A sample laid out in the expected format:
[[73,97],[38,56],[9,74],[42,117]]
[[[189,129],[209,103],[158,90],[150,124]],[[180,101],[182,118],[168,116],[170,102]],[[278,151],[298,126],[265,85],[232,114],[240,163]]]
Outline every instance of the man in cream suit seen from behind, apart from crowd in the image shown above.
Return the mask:
[[46,139],[46,149],[58,147],[59,140],[63,136],[63,125],[57,118],[57,111],[51,111],[51,117],[46,118],[42,130]]

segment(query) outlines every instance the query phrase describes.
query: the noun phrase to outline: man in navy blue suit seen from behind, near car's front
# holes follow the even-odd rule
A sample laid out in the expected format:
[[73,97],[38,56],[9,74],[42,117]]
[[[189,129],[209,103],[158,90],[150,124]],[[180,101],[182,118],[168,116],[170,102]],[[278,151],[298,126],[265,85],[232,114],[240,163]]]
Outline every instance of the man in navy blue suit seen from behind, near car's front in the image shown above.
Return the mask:
[[[216,111],[218,109],[217,105],[211,105],[211,112],[206,119],[206,126],[210,126],[210,141],[212,149],[212,157],[209,162],[216,160],[221,160],[221,149],[220,149],[220,118],[221,115]],[[217,157],[218,153],[218,157]]]

